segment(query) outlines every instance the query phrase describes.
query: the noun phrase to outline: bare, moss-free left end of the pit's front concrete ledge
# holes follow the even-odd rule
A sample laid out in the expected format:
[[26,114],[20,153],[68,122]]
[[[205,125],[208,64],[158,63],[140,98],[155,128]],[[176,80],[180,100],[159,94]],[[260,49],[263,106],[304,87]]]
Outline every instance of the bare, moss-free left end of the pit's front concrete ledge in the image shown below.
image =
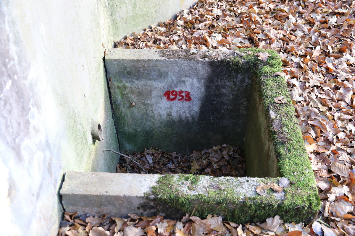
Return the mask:
[[130,213],[151,214],[149,211],[143,212],[140,206],[151,205],[151,202],[144,199],[144,194],[149,192],[158,177],[155,174],[69,171],[65,175],[60,194],[68,212],[117,217],[126,217]]

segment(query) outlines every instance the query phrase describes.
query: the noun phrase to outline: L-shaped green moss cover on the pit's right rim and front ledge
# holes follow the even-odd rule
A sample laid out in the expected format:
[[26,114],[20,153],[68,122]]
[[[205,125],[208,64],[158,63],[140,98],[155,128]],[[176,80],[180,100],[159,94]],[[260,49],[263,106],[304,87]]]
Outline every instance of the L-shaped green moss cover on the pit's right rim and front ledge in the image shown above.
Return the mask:
[[[152,194],[168,206],[190,214],[193,212],[199,217],[217,214],[235,223],[247,223],[261,222],[268,217],[280,215],[284,222],[310,223],[318,213],[321,203],[286,81],[283,76],[275,75],[282,72],[280,57],[273,50],[242,48],[238,51],[239,56],[231,57],[228,61],[233,68],[255,69],[258,90],[263,99],[265,113],[270,119],[269,128],[280,175],[291,182],[289,188],[284,190],[284,200],[278,200],[271,194],[241,200],[240,196],[231,194],[228,189],[209,191],[207,195],[182,194],[175,191],[174,186],[179,183],[169,175],[159,179],[158,184],[152,187]],[[246,51],[252,53],[248,54]],[[255,55],[257,52],[267,52],[271,56],[264,62]],[[280,96],[284,96],[285,103],[275,102],[274,98]],[[271,112],[273,117],[270,116]],[[191,183],[197,183],[199,177],[186,175],[181,178],[189,178]],[[271,181],[275,182],[275,179],[264,178],[261,182]]]

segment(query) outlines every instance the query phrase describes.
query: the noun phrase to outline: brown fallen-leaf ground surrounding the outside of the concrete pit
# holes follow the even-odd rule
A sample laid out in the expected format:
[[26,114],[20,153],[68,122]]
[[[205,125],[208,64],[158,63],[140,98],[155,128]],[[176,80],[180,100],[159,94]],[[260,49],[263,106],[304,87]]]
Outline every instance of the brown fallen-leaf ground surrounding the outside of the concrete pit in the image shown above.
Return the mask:
[[62,228],[60,235],[355,235],[354,15],[351,0],[200,0],[176,19],[116,42],[117,47],[130,49],[256,47],[278,52],[322,201],[315,223],[282,223],[275,216],[242,227],[210,222],[220,222],[218,217],[192,216],[174,226],[173,221],[160,220],[159,226],[144,228],[137,224],[147,218],[137,221],[130,215],[115,231],[112,224],[106,229],[103,223],[93,226],[95,231],[84,230],[84,225],[66,219],[70,230]]

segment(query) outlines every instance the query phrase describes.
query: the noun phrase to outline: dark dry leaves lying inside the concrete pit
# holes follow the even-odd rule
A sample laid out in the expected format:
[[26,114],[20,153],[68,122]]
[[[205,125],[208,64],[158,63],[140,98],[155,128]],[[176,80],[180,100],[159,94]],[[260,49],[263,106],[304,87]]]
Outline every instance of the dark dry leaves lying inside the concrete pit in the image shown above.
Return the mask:
[[[214,146],[191,154],[164,152],[151,148],[144,152],[130,155],[149,174],[198,174],[212,176],[245,176],[245,158],[237,146]],[[120,158],[117,173],[144,173],[137,163],[127,158]]]

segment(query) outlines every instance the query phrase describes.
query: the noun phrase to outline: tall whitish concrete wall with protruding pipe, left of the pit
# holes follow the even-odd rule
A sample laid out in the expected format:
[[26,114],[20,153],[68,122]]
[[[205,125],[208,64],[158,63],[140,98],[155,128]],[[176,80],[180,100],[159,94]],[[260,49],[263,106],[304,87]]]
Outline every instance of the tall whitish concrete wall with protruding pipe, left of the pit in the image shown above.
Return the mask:
[[[153,5],[129,0],[0,2],[1,235],[56,235],[62,174],[115,171],[116,156],[102,150],[118,149],[104,50],[182,8],[173,5],[152,15]],[[146,15],[127,24],[136,7]],[[104,142],[92,139],[92,120]]]

